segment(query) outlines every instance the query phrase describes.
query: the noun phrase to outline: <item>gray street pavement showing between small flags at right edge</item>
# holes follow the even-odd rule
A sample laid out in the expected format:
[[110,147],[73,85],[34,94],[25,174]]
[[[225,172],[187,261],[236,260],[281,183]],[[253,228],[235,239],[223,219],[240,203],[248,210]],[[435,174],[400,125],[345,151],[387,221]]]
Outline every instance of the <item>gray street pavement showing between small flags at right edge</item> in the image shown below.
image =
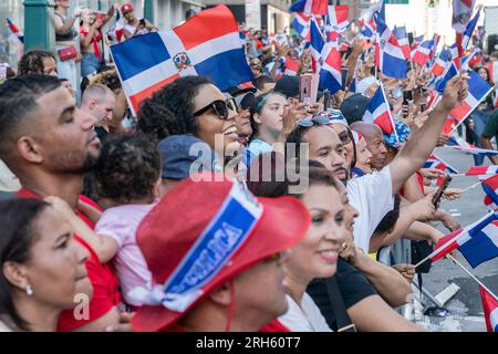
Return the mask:
[[[450,148],[437,148],[435,154],[461,173],[474,166],[471,155],[465,155]],[[485,165],[490,164],[489,159],[486,158]],[[466,188],[477,181],[477,176],[455,177],[450,187]],[[478,186],[465,192],[460,199],[443,201],[440,208],[454,214],[464,227],[478,220],[487,212],[483,202],[484,196],[483,188]],[[447,233],[442,225],[438,225],[437,228]],[[457,260],[492,292],[498,294],[498,258],[480,264],[475,270],[459,252],[457,252]],[[432,330],[443,332],[486,331],[479,287],[458,266],[450,260],[442,259],[433,264],[430,272],[424,274],[423,280],[424,287],[434,295],[452,282],[460,287],[460,291],[445,305],[450,311],[450,315],[444,319],[430,317]]]

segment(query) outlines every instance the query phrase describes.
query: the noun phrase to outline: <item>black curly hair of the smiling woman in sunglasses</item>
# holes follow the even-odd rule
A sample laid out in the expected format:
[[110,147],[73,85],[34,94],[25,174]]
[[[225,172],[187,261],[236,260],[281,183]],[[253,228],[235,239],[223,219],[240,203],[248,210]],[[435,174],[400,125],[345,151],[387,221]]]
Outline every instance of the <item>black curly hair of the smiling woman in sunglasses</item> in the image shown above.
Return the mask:
[[[185,76],[155,92],[138,108],[138,128],[147,133],[143,129],[145,126],[156,126],[156,132],[164,135],[159,139],[169,135],[196,135],[198,123],[194,116],[194,100],[200,86],[212,83],[207,77]],[[144,122],[141,124],[141,121]]]

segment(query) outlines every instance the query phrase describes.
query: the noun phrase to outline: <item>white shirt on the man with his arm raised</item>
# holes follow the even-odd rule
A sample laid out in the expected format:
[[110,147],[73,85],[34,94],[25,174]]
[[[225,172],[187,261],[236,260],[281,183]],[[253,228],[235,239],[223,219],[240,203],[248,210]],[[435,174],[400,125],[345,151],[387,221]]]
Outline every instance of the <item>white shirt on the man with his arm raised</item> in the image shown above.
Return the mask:
[[393,181],[390,166],[378,173],[347,181],[350,204],[360,212],[354,221],[354,243],[369,253],[370,238],[384,216],[393,210]]

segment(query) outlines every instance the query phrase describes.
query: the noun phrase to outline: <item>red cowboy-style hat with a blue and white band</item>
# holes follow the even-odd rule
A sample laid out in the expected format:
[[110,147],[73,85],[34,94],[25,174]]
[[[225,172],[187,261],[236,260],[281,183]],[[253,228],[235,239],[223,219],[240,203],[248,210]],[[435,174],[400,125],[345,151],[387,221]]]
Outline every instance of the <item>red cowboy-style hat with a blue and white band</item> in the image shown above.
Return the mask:
[[[204,181],[196,181],[199,176]],[[310,222],[308,209],[293,197],[256,198],[212,173],[181,181],[137,229],[156,285],[143,289],[147,300],[132,319],[133,330],[172,326],[216,287],[291,248]]]

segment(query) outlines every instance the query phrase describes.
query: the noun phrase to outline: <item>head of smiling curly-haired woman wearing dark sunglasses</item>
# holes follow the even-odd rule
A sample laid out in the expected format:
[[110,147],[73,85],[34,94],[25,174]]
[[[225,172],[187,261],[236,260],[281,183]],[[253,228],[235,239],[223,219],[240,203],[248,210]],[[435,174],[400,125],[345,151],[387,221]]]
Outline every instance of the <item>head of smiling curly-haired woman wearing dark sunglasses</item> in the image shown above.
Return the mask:
[[185,76],[142,103],[138,129],[157,140],[191,134],[221,157],[239,147],[236,116],[234,98],[227,100],[206,77]]

